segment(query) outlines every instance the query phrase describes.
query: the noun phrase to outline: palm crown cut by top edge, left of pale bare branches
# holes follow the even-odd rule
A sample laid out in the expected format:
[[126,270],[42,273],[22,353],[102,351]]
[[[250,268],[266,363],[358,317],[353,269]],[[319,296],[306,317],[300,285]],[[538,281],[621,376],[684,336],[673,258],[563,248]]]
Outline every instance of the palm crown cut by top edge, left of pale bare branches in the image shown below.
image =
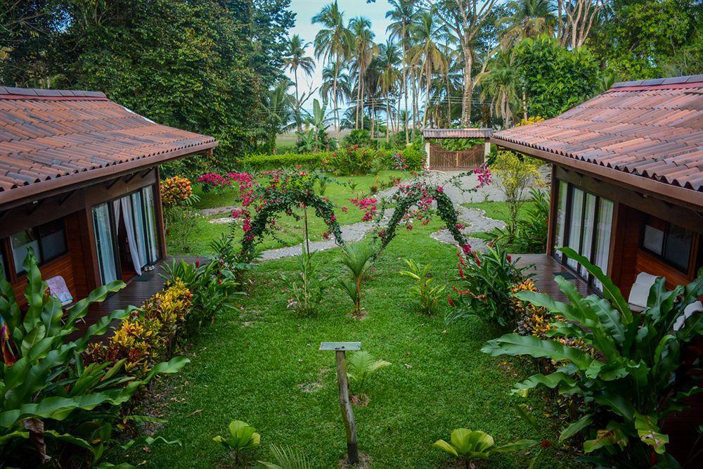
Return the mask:
[[543,33],[552,34],[557,17],[550,0],[510,0],[505,4],[510,15],[501,18],[498,25],[506,25],[501,44],[510,49],[512,44]]

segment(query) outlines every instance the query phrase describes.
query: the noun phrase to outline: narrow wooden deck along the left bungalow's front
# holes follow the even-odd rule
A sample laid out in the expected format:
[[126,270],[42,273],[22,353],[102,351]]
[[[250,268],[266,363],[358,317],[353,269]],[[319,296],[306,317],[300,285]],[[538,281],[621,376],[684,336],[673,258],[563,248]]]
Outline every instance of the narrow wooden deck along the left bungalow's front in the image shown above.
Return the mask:
[[[130,305],[141,306],[145,300],[164,288],[166,281],[165,278],[160,275],[163,273],[162,267],[165,264],[171,264],[173,259],[183,259],[186,262],[195,262],[196,259],[200,259],[200,261],[203,262],[205,257],[167,257],[167,259],[157,262],[153,271],[145,272],[139,277],[131,278],[127,282],[126,287],[110,295],[104,302],[91,304],[88,314],[86,314],[85,317],[85,323],[79,324],[79,332],[82,333],[85,328],[96,323],[101,317],[115,311],[115,309],[124,309]],[[107,335],[110,334],[111,332],[108,332]]]

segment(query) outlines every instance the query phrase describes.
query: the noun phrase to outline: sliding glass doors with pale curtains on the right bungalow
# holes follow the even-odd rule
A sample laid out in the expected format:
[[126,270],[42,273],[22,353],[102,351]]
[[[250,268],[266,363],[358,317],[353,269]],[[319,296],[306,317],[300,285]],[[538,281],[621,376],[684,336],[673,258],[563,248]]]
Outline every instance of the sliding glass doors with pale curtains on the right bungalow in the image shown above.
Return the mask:
[[[555,181],[555,184],[559,184],[559,190],[554,248],[568,246],[607,273],[613,217],[612,201],[583,191],[565,181]],[[555,252],[555,257],[594,288],[602,288],[600,282],[591,278],[586,269],[574,259],[567,258],[561,252]]]

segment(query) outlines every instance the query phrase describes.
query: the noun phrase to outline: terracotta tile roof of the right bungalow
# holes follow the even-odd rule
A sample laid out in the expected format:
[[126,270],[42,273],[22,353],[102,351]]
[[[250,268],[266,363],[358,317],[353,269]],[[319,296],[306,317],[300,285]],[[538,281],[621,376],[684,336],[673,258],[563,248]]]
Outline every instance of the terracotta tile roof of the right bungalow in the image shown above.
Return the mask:
[[703,192],[703,75],[617,83],[553,119],[498,131],[491,141]]

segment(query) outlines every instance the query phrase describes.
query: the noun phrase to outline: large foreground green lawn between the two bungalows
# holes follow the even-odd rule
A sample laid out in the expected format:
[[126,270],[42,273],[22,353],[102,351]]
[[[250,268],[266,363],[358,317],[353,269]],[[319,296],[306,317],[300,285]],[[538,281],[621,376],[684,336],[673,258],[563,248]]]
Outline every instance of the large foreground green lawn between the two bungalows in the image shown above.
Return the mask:
[[[392,362],[373,376],[370,404],[355,408],[359,448],[370,456],[372,467],[450,467],[449,457],[432,443],[448,439],[458,427],[489,432],[497,444],[553,437],[555,423],[543,416],[550,410],[542,399],[509,392],[533,371],[531,364],[479,351],[500,331],[479,320],[447,325],[441,314],[428,317],[414,310],[408,279],[398,275],[404,257],[431,262],[441,281],[455,274],[456,250],[429,236],[440,228],[439,221],[432,221],[413,231],[401,230],[365,285],[367,315],[362,321],[349,318],[349,300],[335,286],[342,271],[338,249],[316,254],[323,273],[332,279],[313,318],[299,318],[286,308],[288,293],[279,276],[295,269],[297,259],[266,262],[251,271],[249,295],[240,311],[221,312],[203,330],[188,349],[191,364],[162,380],[153,406],[146,409],[167,419],[156,435],[180,439],[183,446],[156,444],[148,454],[134,450],[131,462],[146,460],[148,467],[162,468],[228,467],[230,456],[212,437],[224,435],[231,419],[241,419],[262,435],[257,458],[270,458],[270,445],[283,444],[302,449],[315,468],[337,467],[346,446],[334,357],[318,351],[320,342],[328,340],[360,340],[363,349]],[[531,406],[541,432],[517,417],[518,403]],[[527,467],[530,458],[496,454],[490,467]],[[536,467],[565,464],[543,455]]]

